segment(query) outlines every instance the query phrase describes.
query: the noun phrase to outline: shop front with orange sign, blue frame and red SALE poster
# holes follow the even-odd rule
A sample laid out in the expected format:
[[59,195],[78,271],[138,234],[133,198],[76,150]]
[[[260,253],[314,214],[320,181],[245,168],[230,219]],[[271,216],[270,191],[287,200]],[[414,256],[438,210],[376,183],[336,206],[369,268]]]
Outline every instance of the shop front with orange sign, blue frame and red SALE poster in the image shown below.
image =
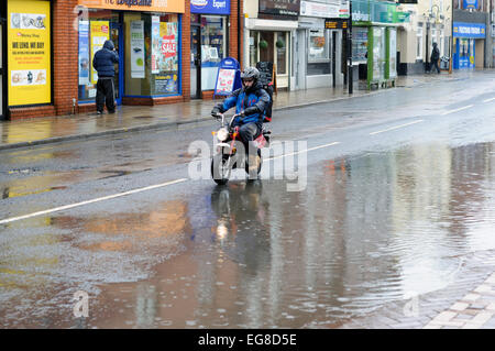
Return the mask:
[[79,0],[78,101],[94,103],[98,74],[95,53],[111,40],[118,105],[154,105],[182,95],[182,14],[184,1]]

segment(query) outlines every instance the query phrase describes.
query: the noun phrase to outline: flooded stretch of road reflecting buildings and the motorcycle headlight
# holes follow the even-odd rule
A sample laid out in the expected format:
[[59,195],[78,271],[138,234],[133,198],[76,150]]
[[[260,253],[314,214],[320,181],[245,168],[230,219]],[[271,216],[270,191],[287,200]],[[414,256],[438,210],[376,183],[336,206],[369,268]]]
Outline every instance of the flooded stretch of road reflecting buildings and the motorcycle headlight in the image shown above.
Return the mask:
[[86,289],[88,328],[334,327],[495,249],[494,157],[494,143],[411,144],[311,164],[306,191],[200,183],[135,212],[15,223],[0,316],[78,326],[69,296]]

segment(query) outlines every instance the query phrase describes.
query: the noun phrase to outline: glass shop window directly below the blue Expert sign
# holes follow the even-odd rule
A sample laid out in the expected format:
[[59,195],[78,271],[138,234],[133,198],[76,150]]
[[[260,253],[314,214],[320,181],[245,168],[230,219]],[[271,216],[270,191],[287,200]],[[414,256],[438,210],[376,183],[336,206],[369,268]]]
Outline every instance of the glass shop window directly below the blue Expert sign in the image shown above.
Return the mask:
[[227,19],[201,15],[201,89],[212,90],[227,52]]

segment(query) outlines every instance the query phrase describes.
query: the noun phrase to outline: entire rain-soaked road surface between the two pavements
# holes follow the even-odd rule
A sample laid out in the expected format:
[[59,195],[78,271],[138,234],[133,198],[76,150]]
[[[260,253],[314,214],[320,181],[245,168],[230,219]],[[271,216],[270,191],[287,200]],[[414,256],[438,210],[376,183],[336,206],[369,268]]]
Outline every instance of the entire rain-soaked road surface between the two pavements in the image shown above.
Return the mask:
[[1,152],[1,326],[338,327],[441,289],[495,251],[493,81],[280,112],[226,187],[189,172],[213,122]]

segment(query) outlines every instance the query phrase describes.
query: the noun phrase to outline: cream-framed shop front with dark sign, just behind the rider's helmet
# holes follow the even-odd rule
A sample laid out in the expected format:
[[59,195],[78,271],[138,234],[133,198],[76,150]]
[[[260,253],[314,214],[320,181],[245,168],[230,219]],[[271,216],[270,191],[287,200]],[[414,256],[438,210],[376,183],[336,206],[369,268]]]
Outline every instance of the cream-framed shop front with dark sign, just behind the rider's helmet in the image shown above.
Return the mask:
[[275,88],[288,89],[292,34],[298,28],[300,1],[260,0],[256,10],[257,18],[249,18],[246,21],[249,65],[273,63]]

